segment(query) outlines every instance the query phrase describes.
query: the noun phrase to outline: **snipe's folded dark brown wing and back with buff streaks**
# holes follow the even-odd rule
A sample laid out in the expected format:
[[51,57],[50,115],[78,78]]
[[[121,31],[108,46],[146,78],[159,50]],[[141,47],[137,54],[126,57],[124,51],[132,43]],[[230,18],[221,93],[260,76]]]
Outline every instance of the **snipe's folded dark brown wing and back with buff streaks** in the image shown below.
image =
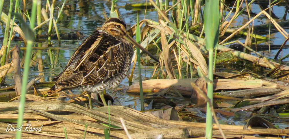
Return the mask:
[[120,53],[122,47],[123,43],[113,36],[95,31],[82,42],[64,71],[57,76],[54,90],[98,84],[115,76],[124,65],[120,62],[124,59]]

